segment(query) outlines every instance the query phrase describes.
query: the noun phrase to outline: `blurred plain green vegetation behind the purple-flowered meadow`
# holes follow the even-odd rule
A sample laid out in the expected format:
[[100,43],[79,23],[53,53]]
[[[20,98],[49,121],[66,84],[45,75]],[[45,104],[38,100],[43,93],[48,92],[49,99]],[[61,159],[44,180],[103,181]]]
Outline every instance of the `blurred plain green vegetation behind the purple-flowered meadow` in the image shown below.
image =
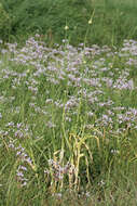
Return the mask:
[[[135,0],[0,0],[0,38],[19,40],[37,31],[50,42],[61,42],[65,26],[71,44],[120,44],[123,39],[136,38],[137,2]],[[2,10],[1,8],[1,10]],[[3,17],[5,16],[6,17]],[[88,21],[93,18],[91,25]],[[5,23],[6,21],[6,23]],[[131,24],[132,23],[132,24]]]

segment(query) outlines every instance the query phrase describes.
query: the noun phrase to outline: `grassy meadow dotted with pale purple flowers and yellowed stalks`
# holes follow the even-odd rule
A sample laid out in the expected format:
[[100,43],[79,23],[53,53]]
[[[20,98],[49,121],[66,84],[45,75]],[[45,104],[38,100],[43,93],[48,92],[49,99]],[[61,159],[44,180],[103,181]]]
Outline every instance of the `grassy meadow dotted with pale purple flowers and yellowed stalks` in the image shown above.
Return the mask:
[[1,46],[0,205],[137,203],[137,41]]

